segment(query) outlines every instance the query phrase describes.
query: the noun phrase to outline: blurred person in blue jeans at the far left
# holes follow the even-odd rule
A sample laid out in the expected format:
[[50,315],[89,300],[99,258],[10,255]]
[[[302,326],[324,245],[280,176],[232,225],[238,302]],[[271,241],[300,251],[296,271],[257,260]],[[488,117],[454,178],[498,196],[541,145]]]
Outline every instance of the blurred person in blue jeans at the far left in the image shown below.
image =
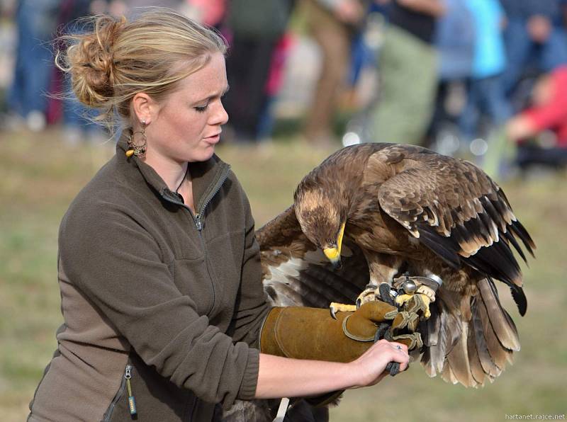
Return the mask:
[[9,127],[25,123],[33,131],[47,123],[47,94],[54,66],[50,41],[63,0],[20,0],[16,6],[16,65],[7,103]]

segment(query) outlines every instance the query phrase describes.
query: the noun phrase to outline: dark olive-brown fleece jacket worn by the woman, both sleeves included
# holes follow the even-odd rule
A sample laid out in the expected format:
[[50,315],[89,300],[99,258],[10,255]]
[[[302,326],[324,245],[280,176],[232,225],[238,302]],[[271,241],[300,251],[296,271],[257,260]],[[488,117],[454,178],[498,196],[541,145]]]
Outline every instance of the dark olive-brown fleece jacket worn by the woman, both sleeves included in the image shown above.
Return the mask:
[[217,156],[189,171],[195,215],[120,139],[70,205],[64,324],[29,421],[212,421],[254,397],[269,307],[249,203]]

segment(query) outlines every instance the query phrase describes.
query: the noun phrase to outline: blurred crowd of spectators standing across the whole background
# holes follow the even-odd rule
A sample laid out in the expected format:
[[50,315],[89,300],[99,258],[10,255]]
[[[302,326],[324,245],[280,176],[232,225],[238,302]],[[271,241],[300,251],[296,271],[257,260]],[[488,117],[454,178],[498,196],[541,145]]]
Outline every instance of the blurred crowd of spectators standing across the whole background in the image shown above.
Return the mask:
[[52,42],[143,6],[228,40],[225,142],[264,142],[291,115],[310,147],[421,144],[500,176],[567,165],[567,0],[2,0],[0,133],[106,139]]

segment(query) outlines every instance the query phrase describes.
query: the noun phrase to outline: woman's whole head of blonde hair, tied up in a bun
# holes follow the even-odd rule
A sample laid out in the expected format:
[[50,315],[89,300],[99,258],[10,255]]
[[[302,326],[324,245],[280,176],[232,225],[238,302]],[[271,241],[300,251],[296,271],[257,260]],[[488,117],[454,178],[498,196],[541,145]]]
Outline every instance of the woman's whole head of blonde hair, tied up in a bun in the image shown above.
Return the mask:
[[130,122],[136,93],[161,101],[211,54],[226,52],[218,33],[167,8],[148,8],[133,21],[99,15],[84,23],[91,32],[60,37],[55,64],[71,75],[79,101],[100,110],[96,120],[112,130],[120,118]]

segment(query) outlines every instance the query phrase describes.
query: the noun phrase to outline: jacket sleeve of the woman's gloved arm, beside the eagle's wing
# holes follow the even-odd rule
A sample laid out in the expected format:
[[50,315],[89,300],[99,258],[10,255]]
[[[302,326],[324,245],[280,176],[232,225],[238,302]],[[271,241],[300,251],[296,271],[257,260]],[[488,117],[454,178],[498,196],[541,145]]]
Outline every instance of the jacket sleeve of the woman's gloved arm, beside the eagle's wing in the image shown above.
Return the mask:
[[232,319],[232,338],[234,341],[245,341],[250,346],[259,348],[259,331],[270,307],[264,296],[260,249],[254,232],[254,219],[245,193],[242,192],[242,195],[246,209],[245,251],[236,312]]

